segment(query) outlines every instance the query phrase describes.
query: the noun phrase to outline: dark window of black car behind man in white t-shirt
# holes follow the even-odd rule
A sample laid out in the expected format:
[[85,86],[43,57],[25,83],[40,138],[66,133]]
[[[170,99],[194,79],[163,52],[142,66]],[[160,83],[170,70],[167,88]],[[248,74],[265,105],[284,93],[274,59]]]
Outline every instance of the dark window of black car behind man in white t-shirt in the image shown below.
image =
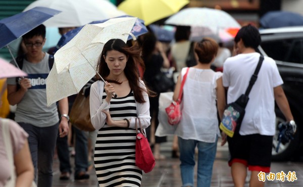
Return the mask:
[[274,60],[303,64],[303,38],[264,41],[261,46]]

